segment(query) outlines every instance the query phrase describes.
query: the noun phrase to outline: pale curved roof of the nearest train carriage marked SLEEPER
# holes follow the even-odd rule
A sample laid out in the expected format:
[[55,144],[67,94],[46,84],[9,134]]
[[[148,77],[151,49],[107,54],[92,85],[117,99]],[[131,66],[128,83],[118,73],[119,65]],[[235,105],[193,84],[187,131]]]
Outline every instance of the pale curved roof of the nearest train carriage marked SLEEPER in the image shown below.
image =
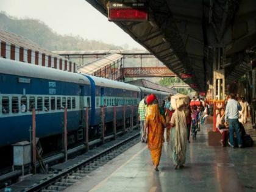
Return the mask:
[[81,74],[3,58],[0,58],[0,73],[90,85],[90,81]]

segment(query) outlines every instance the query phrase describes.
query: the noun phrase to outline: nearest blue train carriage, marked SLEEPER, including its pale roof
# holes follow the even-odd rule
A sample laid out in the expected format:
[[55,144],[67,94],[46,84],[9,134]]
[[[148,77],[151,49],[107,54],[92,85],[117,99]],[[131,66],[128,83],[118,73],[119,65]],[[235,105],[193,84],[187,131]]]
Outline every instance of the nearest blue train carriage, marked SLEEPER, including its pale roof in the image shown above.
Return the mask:
[[83,108],[90,103],[87,77],[7,59],[0,59],[0,76],[0,147],[29,141],[32,108],[42,145],[48,144],[51,150],[60,147],[63,107],[68,109],[69,143],[76,142]]

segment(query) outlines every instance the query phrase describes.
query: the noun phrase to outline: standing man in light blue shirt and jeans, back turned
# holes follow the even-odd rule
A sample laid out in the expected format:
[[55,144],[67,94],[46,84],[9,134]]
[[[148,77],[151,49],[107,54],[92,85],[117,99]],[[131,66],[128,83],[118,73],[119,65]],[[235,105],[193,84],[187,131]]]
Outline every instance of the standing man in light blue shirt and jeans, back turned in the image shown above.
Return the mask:
[[242,147],[242,137],[239,129],[238,117],[241,105],[235,100],[235,94],[230,93],[230,100],[227,102],[225,121],[229,121],[229,145],[234,148],[234,132],[236,132],[236,138],[238,140],[238,147]]

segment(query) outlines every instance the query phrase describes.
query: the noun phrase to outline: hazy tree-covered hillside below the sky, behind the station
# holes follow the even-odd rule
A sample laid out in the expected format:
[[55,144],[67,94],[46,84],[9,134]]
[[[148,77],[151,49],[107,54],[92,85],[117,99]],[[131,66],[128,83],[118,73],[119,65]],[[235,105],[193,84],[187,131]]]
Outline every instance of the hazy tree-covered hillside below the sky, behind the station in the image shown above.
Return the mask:
[[59,35],[39,20],[20,20],[0,13],[0,29],[21,35],[51,51],[121,49],[113,44],[87,40],[82,37]]

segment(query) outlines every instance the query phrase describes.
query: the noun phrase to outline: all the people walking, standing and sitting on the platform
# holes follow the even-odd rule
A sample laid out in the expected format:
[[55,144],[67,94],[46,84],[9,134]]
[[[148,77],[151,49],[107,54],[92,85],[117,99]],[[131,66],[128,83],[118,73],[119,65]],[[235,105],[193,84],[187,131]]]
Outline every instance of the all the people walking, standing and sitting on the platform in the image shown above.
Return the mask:
[[[237,101],[238,99],[238,101]],[[218,110],[216,118],[216,130],[221,133],[221,145],[229,144],[235,148],[236,135],[237,146],[243,146],[240,124],[247,122],[247,104],[243,98],[235,98],[230,94],[226,108]],[[193,98],[176,94],[169,96],[158,104],[154,94],[145,96],[139,104],[141,142],[148,143],[151,152],[154,169],[158,171],[158,165],[162,154],[163,143],[171,148],[170,156],[174,160],[175,169],[183,168],[186,159],[187,143],[190,143],[190,135],[196,141],[200,125],[207,121],[211,107],[204,99]],[[166,129],[166,140],[164,137]]]

